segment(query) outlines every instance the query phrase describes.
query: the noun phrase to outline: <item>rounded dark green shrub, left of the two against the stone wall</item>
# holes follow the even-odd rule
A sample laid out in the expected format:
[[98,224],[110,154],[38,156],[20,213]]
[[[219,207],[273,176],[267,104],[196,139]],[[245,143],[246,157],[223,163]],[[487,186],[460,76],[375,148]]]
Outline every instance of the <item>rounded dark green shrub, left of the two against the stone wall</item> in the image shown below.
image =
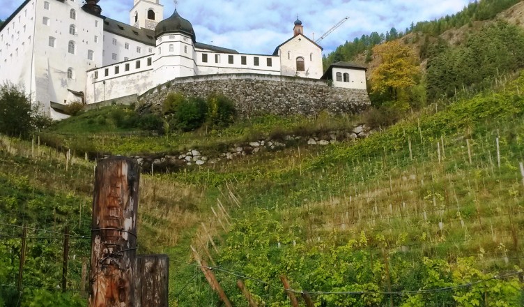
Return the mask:
[[176,107],[174,123],[176,128],[183,131],[192,131],[200,128],[206,121],[207,106],[202,98],[190,98],[182,101]]

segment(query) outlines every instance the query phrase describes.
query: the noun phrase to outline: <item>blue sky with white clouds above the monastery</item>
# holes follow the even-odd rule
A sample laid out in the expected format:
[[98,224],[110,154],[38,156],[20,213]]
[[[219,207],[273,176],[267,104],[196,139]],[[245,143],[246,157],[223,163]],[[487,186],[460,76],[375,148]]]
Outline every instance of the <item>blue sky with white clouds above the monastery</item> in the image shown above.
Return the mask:
[[[0,0],[0,19],[6,20],[24,0]],[[77,0],[82,1],[82,0]],[[155,0],[151,0],[155,1]],[[404,31],[411,22],[433,20],[459,12],[474,0],[160,0],[164,18],[176,6],[180,16],[194,27],[196,40],[242,53],[272,54],[275,47],[293,36],[298,18],[311,39],[320,36],[348,16],[344,24],[319,45],[323,54],[346,40],[392,27]],[[133,0],[100,0],[102,15],[129,23]]]

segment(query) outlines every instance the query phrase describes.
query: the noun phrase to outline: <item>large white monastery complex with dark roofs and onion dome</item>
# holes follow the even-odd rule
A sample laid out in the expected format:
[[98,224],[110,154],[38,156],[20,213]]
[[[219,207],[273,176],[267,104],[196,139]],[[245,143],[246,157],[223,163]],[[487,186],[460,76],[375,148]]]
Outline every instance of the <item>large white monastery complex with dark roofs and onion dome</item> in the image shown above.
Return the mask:
[[333,80],[366,89],[364,66],[334,63],[322,47],[293,36],[273,54],[247,54],[196,41],[175,10],[162,20],[159,0],[133,0],[129,24],[101,15],[100,0],[25,0],[0,27],[0,82],[21,84],[53,119],[71,101],[100,103],[140,95],[179,77],[251,73]]

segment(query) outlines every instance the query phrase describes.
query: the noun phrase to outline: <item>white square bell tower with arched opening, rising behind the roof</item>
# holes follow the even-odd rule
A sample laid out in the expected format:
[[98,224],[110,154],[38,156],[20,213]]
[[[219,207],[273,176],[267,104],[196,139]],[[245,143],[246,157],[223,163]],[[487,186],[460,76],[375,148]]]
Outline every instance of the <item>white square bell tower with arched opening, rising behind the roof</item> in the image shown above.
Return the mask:
[[129,11],[129,24],[135,28],[154,30],[164,19],[164,6],[159,0],[134,0],[134,6]]

